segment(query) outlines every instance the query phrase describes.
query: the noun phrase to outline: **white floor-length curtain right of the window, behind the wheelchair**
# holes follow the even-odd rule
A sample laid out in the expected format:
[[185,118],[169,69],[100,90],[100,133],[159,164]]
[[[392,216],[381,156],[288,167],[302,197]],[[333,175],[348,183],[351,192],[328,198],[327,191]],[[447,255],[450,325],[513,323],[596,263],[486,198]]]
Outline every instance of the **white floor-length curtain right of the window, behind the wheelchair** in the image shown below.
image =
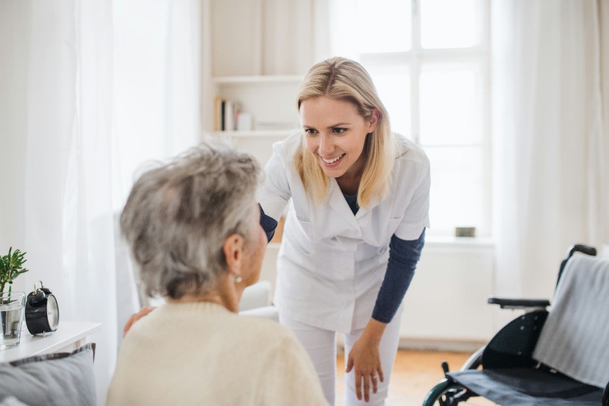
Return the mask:
[[609,242],[608,10],[491,2],[499,295],[549,298],[569,245]]

